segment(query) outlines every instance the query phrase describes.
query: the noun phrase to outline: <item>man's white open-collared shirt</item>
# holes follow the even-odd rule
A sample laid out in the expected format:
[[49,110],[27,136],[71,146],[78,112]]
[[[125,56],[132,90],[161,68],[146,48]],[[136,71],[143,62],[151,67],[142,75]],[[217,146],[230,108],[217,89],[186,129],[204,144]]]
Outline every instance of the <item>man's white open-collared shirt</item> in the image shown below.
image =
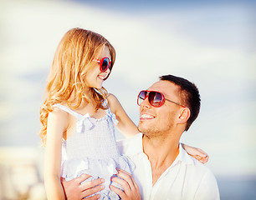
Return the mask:
[[172,165],[166,169],[152,186],[151,163],[142,148],[142,134],[118,142],[120,153],[125,154],[136,168],[133,177],[145,200],[165,199],[219,199],[218,184],[212,172],[192,158],[179,146],[179,154]]

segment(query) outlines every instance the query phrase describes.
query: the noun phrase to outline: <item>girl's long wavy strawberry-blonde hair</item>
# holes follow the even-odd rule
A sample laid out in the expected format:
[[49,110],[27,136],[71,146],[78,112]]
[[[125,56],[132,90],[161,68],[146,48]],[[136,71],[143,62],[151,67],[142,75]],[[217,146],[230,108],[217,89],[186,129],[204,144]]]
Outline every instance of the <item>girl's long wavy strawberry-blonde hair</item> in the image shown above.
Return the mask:
[[[42,128],[39,136],[43,145],[46,143],[48,115],[53,111],[54,104],[62,102],[75,109],[80,106],[83,99],[90,102],[85,92],[84,77],[95,67],[96,62],[92,63],[92,60],[101,58],[98,56],[103,47],[109,48],[112,69],[115,63],[115,48],[100,34],[82,28],[73,28],[66,32],[59,42],[49,72],[45,100],[40,107]],[[90,92],[95,100],[95,111],[99,108],[106,109],[107,107],[102,105],[107,95],[105,88],[102,87],[97,91],[95,88],[90,88]]]

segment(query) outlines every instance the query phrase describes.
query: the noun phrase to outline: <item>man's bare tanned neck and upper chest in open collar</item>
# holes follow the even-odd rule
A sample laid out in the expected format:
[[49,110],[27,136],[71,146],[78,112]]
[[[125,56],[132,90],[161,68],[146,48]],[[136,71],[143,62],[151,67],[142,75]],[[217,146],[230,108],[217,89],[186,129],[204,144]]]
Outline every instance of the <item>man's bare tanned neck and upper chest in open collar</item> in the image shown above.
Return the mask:
[[152,185],[169,168],[179,154],[179,138],[142,138],[143,151],[151,162]]

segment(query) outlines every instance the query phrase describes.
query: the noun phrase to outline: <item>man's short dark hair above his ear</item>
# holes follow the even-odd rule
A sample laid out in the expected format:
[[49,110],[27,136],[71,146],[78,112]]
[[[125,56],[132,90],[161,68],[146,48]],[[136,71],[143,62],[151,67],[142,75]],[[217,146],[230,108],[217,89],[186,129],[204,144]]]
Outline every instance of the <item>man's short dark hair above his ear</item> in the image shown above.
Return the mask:
[[161,81],[169,81],[180,87],[182,105],[188,107],[191,112],[185,128],[185,131],[187,131],[192,122],[194,122],[197,118],[200,110],[201,99],[197,86],[194,83],[187,81],[187,79],[183,77],[164,75],[159,78]]

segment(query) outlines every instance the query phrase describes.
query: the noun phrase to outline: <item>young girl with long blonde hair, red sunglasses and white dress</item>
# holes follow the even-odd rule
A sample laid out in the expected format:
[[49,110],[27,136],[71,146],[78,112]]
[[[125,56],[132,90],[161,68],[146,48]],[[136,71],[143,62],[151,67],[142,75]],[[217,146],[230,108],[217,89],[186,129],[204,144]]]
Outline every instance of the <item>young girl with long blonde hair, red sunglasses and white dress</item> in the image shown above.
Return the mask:
[[101,199],[119,199],[109,189],[110,178],[115,168],[133,171],[131,160],[118,152],[115,127],[125,136],[138,130],[102,87],[114,63],[114,47],[95,32],[74,28],[59,42],[40,110],[48,199],[65,199],[60,177],[71,180],[83,173],[105,179]]

